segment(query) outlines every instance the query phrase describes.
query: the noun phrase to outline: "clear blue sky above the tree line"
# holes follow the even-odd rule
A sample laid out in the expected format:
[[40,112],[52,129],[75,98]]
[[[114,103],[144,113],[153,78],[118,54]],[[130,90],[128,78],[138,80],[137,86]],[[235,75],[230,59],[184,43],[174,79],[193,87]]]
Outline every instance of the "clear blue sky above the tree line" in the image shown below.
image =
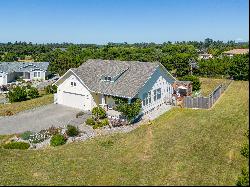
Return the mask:
[[248,0],[0,0],[0,42],[249,40]]

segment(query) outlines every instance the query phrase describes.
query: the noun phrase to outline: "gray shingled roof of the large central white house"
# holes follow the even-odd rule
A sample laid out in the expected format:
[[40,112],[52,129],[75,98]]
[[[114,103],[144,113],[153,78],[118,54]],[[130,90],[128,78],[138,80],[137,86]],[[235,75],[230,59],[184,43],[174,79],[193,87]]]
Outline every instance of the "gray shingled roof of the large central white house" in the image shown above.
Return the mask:
[[[151,77],[159,63],[117,60],[88,60],[71,70],[92,92],[133,98]],[[102,80],[102,76],[117,76],[114,82]]]

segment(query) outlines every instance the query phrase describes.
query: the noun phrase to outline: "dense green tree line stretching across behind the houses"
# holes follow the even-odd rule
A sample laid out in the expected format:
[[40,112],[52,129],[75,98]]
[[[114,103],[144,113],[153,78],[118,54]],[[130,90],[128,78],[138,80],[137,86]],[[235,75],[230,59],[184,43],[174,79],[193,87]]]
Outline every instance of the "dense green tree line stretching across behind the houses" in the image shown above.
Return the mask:
[[[62,75],[69,68],[78,67],[88,59],[125,61],[159,61],[176,77],[191,73],[190,61],[197,63],[193,74],[210,77],[232,77],[248,80],[248,55],[233,58],[220,57],[233,48],[248,48],[247,43],[222,42],[205,39],[203,42],[183,41],[156,43],[72,44],[26,42],[0,43],[0,61],[17,61],[29,55],[34,61],[49,61],[49,70]],[[210,52],[215,58],[198,60],[199,52]]]

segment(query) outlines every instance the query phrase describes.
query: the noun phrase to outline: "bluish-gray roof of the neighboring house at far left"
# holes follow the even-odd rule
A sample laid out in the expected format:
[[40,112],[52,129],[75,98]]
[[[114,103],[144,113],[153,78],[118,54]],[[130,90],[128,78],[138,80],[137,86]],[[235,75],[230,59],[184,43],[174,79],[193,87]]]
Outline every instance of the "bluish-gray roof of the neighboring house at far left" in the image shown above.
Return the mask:
[[49,62],[0,62],[0,72],[47,71]]

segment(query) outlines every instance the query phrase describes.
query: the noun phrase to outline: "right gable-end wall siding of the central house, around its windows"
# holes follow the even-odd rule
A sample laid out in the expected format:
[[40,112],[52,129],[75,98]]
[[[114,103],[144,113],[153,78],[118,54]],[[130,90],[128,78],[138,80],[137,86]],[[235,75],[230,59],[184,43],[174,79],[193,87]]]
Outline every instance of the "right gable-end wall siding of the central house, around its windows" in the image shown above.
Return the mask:
[[[142,113],[145,114],[157,106],[160,106],[167,100],[171,100],[173,94],[172,83],[173,80],[168,77],[161,68],[158,68],[137,95],[137,97],[142,100]],[[154,100],[154,90],[159,88],[161,89],[161,98]],[[148,104],[143,105],[143,95],[149,92],[151,102],[150,99],[148,99]]]

